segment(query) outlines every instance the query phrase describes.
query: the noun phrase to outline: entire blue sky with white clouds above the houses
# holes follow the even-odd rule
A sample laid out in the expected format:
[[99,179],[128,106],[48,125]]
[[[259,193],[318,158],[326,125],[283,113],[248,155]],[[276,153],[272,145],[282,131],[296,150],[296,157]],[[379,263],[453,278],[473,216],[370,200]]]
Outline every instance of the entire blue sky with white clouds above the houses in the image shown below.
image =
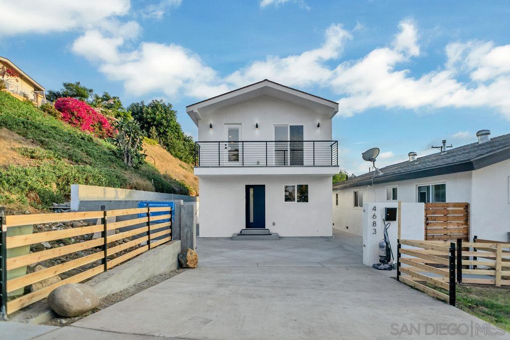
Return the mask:
[[45,86],[187,104],[265,78],[340,102],[340,165],[510,133],[505,1],[0,0],[0,55]]

